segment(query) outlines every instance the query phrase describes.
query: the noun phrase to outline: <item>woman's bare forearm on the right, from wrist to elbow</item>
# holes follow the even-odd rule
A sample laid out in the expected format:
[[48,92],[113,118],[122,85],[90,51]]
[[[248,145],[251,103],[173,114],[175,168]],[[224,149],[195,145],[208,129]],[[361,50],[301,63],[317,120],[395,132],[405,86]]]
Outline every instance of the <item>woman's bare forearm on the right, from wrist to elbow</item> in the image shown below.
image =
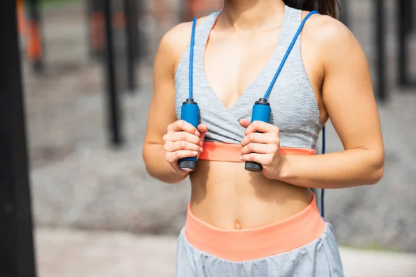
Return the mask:
[[309,188],[347,188],[376,184],[383,176],[384,157],[366,149],[284,157],[275,179]]

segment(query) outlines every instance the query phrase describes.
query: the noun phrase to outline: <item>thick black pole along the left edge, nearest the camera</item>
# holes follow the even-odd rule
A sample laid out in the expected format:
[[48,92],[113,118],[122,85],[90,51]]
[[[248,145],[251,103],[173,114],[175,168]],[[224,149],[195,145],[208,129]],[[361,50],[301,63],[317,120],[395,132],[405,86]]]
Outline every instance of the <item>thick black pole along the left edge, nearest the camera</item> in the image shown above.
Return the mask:
[[0,10],[0,276],[35,277],[16,1]]

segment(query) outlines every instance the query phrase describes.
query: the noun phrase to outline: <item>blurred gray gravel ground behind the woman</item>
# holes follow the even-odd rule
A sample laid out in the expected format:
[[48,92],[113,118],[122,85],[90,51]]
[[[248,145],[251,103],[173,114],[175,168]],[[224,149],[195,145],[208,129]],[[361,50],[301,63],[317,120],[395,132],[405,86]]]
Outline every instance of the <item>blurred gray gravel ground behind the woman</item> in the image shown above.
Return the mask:
[[[352,1],[351,8],[352,30],[373,64],[370,1]],[[189,182],[168,185],[151,179],[141,159],[151,64],[145,61],[137,70],[141,87],[136,93],[121,93],[125,144],[112,148],[107,143],[104,71],[87,55],[82,6],[46,11],[44,23],[46,72],[35,76],[24,64],[36,224],[177,234],[184,224]],[[376,186],[329,191],[327,218],[340,244],[416,252],[416,94],[392,85],[394,25],[388,30],[391,99],[379,107],[385,176]],[[148,41],[148,60],[162,33],[155,34]],[[342,150],[331,126],[328,132],[328,151]]]

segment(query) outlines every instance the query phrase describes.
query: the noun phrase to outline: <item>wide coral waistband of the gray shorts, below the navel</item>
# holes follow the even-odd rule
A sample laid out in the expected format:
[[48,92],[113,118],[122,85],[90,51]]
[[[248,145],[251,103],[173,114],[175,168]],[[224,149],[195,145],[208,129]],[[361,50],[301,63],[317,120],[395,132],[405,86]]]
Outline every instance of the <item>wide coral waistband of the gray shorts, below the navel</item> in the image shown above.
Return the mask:
[[274,256],[302,247],[320,238],[326,226],[313,195],[311,204],[300,213],[256,229],[218,229],[195,217],[188,206],[184,235],[200,251],[240,262]]

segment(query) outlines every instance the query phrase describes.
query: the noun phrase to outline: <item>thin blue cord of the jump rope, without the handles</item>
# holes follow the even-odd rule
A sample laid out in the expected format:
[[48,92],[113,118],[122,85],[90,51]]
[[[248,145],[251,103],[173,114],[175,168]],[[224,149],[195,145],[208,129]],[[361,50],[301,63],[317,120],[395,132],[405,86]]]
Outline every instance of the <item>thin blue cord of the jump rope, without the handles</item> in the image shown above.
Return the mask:
[[[313,10],[309,12],[308,15],[303,19],[302,23],[300,24],[299,28],[297,29],[297,32],[295,34],[295,37],[293,37],[293,40],[291,42],[291,45],[289,45],[288,50],[286,51],[286,54],[284,55],[283,59],[281,60],[281,63],[279,65],[279,69],[277,69],[275,77],[273,77],[272,82],[270,83],[270,86],[268,87],[266,94],[264,95],[264,98],[267,99],[270,95],[270,91],[272,91],[273,85],[275,84],[277,77],[279,77],[279,74],[281,72],[281,69],[283,69],[284,63],[288,59],[289,54],[291,53],[293,46],[295,46],[295,43],[297,41],[297,38],[300,35],[300,32],[302,31],[302,28],[304,27],[306,20],[311,17],[311,15],[318,14],[316,10]],[[191,35],[191,46],[190,46],[190,57],[189,57],[189,98],[192,99],[192,91],[193,91],[193,48],[195,46],[195,28],[196,28],[196,18],[193,19],[192,22],[192,35]],[[325,126],[322,128],[322,154],[325,154]],[[324,210],[324,193],[325,190],[322,188],[321,193],[321,216],[324,217],[325,210]]]

